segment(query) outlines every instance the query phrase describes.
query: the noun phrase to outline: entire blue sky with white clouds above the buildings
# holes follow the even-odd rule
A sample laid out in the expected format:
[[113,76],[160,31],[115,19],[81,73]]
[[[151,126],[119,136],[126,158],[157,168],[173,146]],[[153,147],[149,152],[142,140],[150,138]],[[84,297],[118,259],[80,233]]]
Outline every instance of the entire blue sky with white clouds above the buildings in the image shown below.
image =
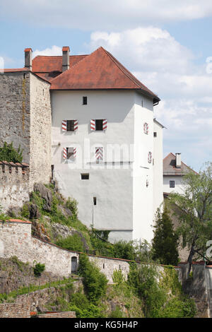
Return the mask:
[[159,95],[164,156],[181,152],[197,171],[211,160],[211,1],[0,0],[0,24],[6,68],[23,66],[25,47],[35,55],[105,47]]

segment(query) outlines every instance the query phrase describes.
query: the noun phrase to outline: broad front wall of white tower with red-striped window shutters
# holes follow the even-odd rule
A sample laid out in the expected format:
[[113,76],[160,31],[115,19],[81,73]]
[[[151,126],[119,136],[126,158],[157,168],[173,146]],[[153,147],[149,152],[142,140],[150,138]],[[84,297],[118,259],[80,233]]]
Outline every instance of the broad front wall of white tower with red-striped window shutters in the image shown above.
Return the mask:
[[[88,105],[82,105],[83,96],[88,97]],[[62,132],[64,119],[77,119],[78,130]],[[107,131],[90,131],[90,119],[107,119]],[[52,164],[61,194],[76,198],[79,219],[88,227],[93,224],[101,230],[124,231],[126,239],[132,238],[133,227],[132,163],[128,163],[132,162],[133,156],[129,154],[133,143],[133,92],[52,93]],[[115,159],[107,154],[107,167],[104,162],[93,163],[94,148],[102,146],[106,158],[110,144],[122,148],[125,145],[128,153],[117,154]],[[69,146],[78,149],[76,162],[63,159],[63,148]],[[120,166],[123,160],[126,163]],[[90,179],[81,180],[82,172],[88,172]],[[97,198],[96,206],[93,206],[93,197]],[[114,241],[117,234],[112,235]]]

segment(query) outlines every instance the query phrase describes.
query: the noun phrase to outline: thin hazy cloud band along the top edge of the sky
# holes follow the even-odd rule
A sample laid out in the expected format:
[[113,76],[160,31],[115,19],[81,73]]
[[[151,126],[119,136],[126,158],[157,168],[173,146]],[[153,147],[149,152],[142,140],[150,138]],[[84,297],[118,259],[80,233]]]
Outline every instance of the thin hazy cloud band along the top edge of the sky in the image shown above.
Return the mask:
[[119,30],[212,15],[208,0],[7,0],[0,17],[81,30]]

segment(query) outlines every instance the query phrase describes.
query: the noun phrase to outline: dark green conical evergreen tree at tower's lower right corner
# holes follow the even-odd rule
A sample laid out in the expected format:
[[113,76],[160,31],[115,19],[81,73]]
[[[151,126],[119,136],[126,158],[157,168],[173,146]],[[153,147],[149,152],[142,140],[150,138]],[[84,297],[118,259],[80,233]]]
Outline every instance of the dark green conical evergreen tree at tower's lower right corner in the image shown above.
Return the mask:
[[167,208],[164,209],[163,213],[158,210],[154,228],[153,260],[166,265],[177,265],[177,235],[174,232]]

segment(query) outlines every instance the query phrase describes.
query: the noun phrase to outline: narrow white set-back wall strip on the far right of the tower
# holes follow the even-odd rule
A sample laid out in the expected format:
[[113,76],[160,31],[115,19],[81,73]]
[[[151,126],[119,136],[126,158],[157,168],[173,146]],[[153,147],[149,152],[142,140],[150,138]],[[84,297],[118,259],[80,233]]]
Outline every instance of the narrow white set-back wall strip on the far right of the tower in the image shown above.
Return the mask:
[[153,137],[154,144],[154,164],[153,164],[153,217],[158,208],[163,210],[163,126],[154,121],[154,131],[157,133]]

